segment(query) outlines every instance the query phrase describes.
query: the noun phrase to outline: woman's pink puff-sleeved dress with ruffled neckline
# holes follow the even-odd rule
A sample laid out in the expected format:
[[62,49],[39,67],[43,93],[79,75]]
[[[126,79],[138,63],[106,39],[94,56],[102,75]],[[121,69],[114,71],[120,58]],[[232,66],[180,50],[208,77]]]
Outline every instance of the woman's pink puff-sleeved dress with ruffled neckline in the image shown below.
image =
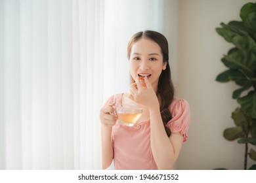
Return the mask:
[[[122,94],[116,96],[116,103],[121,103]],[[113,101],[113,97],[108,101]],[[190,125],[189,104],[184,99],[173,99],[170,110],[173,118],[167,123],[167,127],[171,129],[171,133],[181,133],[185,142]],[[150,120],[141,122],[136,127],[117,122],[112,130],[112,143],[115,169],[158,169],[150,147]]]

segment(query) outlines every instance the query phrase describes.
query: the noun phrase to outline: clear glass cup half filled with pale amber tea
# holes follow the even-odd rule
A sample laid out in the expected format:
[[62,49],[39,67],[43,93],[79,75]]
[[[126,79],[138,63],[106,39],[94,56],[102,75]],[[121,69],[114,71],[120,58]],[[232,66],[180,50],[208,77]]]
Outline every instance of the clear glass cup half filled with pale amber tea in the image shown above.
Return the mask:
[[115,108],[119,124],[127,126],[135,125],[143,112],[143,108],[133,105],[122,104],[116,105]]

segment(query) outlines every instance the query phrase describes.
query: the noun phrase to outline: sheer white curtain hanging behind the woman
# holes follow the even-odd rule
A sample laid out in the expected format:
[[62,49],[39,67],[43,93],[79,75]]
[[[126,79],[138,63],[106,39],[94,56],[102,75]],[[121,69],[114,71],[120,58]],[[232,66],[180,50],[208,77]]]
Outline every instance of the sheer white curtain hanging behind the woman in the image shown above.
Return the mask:
[[131,35],[169,31],[165,5],[0,0],[0,169],[101,169],[100,107],[129,89]]

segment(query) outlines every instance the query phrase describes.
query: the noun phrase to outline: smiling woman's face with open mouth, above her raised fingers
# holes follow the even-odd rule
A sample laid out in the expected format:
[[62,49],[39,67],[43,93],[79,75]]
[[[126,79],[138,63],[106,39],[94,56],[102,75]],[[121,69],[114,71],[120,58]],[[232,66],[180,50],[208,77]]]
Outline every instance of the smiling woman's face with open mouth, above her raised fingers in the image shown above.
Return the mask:
[[133,79],[147,76],[156,92],[161,71],[166,69],[160,46],[150,39],[139,39],[131,48],[129,63]]

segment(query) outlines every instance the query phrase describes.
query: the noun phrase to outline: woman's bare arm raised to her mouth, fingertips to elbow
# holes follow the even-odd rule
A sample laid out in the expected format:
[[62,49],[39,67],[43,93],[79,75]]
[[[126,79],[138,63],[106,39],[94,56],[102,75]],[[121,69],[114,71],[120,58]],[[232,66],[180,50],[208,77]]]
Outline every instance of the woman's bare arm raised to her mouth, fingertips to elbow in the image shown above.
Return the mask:
[[136,83],[131,85],[131,95],[134,101],[148,107],[150,112],[150,145],[158,169],[171,169],[181,151],[183,137],[180,133],[167,136],[156,91],[146,77],[144,82],[146,86],[142,86],[137,78]]

